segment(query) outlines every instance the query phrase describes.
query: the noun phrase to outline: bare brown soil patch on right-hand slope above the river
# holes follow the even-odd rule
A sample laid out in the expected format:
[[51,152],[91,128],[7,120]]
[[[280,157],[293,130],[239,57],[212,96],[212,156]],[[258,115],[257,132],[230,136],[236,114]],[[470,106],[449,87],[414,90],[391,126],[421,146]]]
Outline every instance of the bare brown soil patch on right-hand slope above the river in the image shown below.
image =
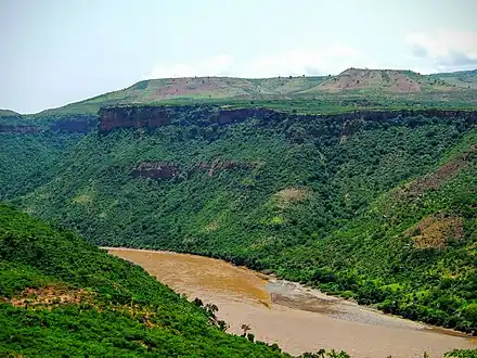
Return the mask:
[[441,248],[464,235],[463,225],[460,217],[427,216],[404,233],[412,235],[417,248]]

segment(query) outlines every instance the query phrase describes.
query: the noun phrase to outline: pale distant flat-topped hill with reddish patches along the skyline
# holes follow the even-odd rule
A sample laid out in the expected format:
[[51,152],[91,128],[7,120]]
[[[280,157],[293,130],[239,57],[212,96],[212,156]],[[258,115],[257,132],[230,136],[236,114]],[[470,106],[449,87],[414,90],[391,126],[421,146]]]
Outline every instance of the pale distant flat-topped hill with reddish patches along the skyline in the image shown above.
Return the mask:
[[[472,77],[474,76],[474,77]],[[151,104],[168,102],[210,102],[241,100],[307,100],[475,102],[475,74],[421,75],[412,71],[348,68],[337,76],[320,77],[183,77],[142,80],[131,87],[101,94],[60,108],[43,111],[42,115],[65,113],[96,113],[101,106],[117,104]],[[467,85],[463,85],[463,84]]]

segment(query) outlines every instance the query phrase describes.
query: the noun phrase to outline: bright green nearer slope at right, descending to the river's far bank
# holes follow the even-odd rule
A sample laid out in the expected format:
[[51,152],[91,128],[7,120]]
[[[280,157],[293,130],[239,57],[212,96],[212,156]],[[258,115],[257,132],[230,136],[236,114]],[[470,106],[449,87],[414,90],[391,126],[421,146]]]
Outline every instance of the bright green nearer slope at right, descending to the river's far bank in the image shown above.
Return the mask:
[[[472,132],[461,142],[465,154],[382,195],[326,240],[285,251],[282,274],[318,281],[359,303],[379,303],[387,312],[475,334],[475,143]],[[462,170],[455,169],[460,165]],[[325,257],[319,255],[323,252]]]

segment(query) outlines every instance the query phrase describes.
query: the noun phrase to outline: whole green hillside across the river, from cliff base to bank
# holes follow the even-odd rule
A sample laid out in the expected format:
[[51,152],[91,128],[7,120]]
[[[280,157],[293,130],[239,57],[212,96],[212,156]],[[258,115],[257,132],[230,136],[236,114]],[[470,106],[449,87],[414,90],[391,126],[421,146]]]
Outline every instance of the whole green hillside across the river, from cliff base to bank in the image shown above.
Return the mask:
[[222,257],[476,331],[473,122],[218,126],[194,108],[149,132],[90,132],[11,203],[99,245]]

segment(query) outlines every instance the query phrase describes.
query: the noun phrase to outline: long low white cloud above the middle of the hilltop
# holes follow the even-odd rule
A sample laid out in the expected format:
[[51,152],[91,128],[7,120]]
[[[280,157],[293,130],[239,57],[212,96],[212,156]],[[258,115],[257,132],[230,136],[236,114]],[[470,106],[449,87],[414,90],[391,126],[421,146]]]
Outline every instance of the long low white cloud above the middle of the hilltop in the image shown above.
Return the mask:
[[230,55],[222,54],[198,63],[156,65],[150,77],[312,76],[338,74],[349,67],[373,67],[373,65],[374,63],[370,59],[365,59],[357,50],[336,44],[320,49],[293,49],[283,53],[252,57],[246,63],[237,63]]

